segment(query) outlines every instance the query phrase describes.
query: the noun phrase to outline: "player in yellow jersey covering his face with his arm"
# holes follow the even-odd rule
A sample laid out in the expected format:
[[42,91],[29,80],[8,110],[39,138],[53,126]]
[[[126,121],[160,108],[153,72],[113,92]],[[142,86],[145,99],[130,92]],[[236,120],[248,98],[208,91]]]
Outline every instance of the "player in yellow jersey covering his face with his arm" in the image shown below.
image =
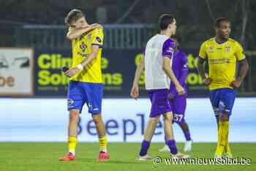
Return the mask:
[[83,12],[72,9],[65,18],[69,26],[67,38],[72,41],[72,67],[64,72],[70,77],[67,92],[67,109],[69,110],[68,148],[67,156],[60,161],[75,160],[75,148],[78,136],[79,113],[83,104],[87,104],[99,137],[98,161],[107,161],[107,137],[105,124],[102,121],[102,71],[101,54],[103,45],[103,30],[99,24],[89,25]]

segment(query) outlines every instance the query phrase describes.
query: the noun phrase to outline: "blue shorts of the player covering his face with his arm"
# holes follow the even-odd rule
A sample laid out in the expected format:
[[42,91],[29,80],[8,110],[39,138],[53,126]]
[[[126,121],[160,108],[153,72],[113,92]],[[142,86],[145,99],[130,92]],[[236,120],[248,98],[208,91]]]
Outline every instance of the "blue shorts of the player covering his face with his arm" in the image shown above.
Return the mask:
[[83,104],[86,103],[89,113],[101,113],[102,96],[102,83],[70,81],[67,91],[67,110],[78,109],[81,113]]

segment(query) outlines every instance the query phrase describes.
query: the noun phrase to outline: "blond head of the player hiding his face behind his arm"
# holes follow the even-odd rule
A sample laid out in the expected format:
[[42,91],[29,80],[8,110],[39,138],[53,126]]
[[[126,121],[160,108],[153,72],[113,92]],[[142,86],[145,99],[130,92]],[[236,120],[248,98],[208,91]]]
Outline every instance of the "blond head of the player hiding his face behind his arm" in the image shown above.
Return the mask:
[[82,28],[83,26],[87,26],[86,18],[83,12],[79,9],[72,9],[65,18],[65,23],[67,26],[72,28]]

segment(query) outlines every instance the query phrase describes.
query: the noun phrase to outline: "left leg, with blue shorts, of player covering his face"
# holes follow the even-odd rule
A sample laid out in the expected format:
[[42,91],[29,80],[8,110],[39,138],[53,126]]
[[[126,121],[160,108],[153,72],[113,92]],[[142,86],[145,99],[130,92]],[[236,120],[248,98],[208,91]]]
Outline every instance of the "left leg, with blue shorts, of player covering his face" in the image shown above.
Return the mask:
[[60,161],[75,160],[75,148],[78,142],[78,120],[83,104],[82,88],[80,88],[78,82],[71,81],[67,93],[67,110],[69,110],[67,146],[69,153],[67,156],[61,157]]

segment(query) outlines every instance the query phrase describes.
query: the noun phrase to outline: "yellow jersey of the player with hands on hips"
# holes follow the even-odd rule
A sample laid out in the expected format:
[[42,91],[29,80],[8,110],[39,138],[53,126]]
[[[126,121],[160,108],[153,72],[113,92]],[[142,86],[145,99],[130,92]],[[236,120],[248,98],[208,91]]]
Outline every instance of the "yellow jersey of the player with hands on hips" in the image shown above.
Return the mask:
[[234,39],[218,43],[215,37],[206,40],[200,47],[200,58],[208,59],[210,90],[232,88],[230,83],[236,80],[236,62],[244,60],[244,50]]

